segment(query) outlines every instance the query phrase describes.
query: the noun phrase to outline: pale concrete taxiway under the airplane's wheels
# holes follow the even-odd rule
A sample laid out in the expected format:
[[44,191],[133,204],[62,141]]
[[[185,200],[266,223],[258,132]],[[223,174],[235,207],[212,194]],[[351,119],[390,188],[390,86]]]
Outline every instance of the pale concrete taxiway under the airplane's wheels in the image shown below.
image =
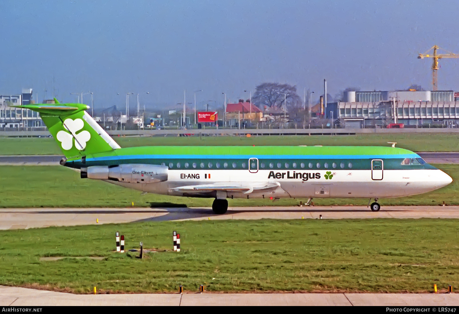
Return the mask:
[[168,220],[222,219],[459,219],[459,206],[230,207],[224,215],[211,208],[5,208],[0,230]]

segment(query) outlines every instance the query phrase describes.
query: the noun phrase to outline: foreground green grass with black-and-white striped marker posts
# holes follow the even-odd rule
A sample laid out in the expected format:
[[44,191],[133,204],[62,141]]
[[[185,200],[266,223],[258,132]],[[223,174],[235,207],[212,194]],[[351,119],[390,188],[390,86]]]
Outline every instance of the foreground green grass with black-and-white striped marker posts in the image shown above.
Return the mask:
[[[113,252],[115,231],[126,249]],[[0,231],[0,285],[98,292],[429,292],[459,283],[455,219],[227,220]],[[65,256],[59,261],[40,257]],[[104,260],[75,259],[103,256]]]

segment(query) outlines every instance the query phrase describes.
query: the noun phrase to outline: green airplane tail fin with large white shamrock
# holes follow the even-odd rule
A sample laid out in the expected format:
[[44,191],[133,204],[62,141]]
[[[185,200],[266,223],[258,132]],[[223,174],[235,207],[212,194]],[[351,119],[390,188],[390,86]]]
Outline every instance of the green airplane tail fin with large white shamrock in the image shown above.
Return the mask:
[[92,155],[121,148],[94,119],[84,104],[34,104],[11,106],[40,113],[51,135],[67,158]]

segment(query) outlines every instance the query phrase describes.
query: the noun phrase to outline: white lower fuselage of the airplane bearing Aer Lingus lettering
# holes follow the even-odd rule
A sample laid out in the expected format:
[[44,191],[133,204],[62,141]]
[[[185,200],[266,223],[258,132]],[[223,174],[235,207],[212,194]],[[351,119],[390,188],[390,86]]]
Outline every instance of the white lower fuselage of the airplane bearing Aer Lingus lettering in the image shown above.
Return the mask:
[[[277,173],[284,173],[284,178],[273,178]],[[333,176],[325,178],[327,172]],[[292,178],[293,175],[301,173],[308,174],[308,179]],[[209,178],[210,174],[210,178]],[[271,174],[271,176],[270,176]],[[317,178],[316,174],[320,174]],[[328,174],[327,174],[328,175]],[[206,185],[218,182],[279,182],[280,188],[270,193],[251,193],[249,197],[400,197],[421,194],[436,190],[443,186],[445,174],[441,170],[384,170],[382,180],[373,180],[371,170],[314,170],[314,169],[292,169],[292,170],[258,170],[257,173],[250,173],[248,170],[200,170],[183,169],[169,170],[167,186],[169,189],[180,186]],[[313,177],[313,179],[310,179]],[[438,179],[437,179],[438,178]],[[438,184],[436,183],[438,182]],[[152,193],[167,194],[166,185],[148,184],[143,191]],[[324,190],[320,194],[318,191]],[[157,191],[161,190],[161,191]],[[328,191],[328,192],[327,192]],[[170,194],[170,192],[169,192]],[[180,193],[172,193],[180,195]],[[258,195],[259,194],[259,195]],[[263,195],[262,195],[263,194]],[[268,195],[266,195],[268,194]],[[244,192],[236,191],[228,194],[229,197],[244,197]]]

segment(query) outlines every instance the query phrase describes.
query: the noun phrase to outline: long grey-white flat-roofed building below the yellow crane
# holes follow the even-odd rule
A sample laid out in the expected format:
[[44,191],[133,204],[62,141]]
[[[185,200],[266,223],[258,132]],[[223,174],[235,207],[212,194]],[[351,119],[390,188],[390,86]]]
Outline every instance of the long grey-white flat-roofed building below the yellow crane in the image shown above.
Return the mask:
[[342,127],[446,127],[459,125],[459,92],[349,91],[343,101],[327,103],[326,118],[339,119]]

